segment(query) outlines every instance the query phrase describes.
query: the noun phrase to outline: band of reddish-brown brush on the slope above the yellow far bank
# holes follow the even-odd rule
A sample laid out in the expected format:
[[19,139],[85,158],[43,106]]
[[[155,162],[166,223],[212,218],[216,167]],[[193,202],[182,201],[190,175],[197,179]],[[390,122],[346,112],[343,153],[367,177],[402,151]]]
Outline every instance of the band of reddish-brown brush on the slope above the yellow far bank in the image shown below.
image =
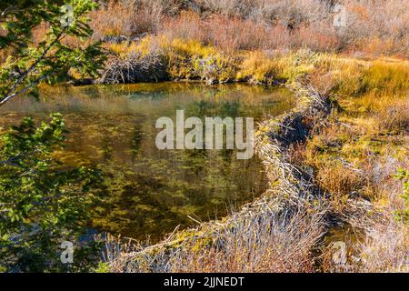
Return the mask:
[[409,4],[339,1],[346,26],[334,26],[334,4],[319,0],[137,0],[107,4],[91,15],[95,37],[166,35],[224,50],[298,49],[407,55]]

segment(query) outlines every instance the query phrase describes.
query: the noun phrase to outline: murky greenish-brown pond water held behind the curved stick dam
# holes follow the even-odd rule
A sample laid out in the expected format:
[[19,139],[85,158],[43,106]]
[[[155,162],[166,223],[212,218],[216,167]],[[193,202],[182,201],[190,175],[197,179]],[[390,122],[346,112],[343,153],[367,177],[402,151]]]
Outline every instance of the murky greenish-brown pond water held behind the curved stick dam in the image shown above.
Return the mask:
[[157,150],[155,121],[189,116],[279,115],[294,99],[284,88],[161,83],[42,87],[41,101],[15,99],[0,113],[0,126],[25,115],[65,115],[67,165],[98,166],[109,195],[95,206],[94,226],[123,236],[153,239],[195,219],[224,216],[263,193],[261,163],[237,160],[234,150]]

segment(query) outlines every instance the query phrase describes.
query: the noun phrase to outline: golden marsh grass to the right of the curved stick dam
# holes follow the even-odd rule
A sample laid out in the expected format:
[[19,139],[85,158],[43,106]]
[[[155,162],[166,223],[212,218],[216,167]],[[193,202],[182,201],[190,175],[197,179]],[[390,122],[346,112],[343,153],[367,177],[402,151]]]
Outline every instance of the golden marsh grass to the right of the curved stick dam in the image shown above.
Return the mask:
[[[354,257],[344,266],[330,263],[326,270],[407,272],[407,221],[397,216],[405,209],[403,188],[394,175],[409,166],[409,65],[337,58],[324,62],[324,68],[335,73],[330,92],[343,110],[307,143],[304,161],[330,194],[333,211],[364,232],[363,239],[348,246]],[[356,211],[363,202],[369,208]]]

